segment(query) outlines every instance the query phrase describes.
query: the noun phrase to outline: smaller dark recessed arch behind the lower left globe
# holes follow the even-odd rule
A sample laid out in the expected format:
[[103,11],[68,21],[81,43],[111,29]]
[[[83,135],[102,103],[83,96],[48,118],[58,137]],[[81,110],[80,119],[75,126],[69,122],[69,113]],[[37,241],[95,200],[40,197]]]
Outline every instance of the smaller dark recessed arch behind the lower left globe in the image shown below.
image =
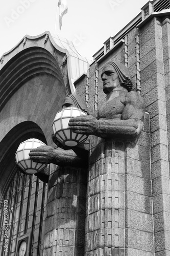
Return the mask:
[[37,138],[47,144],[41,128],[34,122],[25,121],[17,124],[0,142],[0,201],[16,173],[15,152],[20,142]]

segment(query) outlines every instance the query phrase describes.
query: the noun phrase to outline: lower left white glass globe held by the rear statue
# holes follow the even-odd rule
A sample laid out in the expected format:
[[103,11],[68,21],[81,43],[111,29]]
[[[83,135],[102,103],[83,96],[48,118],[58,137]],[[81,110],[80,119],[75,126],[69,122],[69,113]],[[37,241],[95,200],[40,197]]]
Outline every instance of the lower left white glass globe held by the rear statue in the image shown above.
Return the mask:
[[38,139],[28,139],[21,142],[18,146],[18,149],[15,153],[16,164],[26,174],[36,174],[46,167],[45,164],[33,162],[33,160],[31,160],[29,156],[30,150],[32,148],[37,148],[38,146],[42,145],[45,144]]

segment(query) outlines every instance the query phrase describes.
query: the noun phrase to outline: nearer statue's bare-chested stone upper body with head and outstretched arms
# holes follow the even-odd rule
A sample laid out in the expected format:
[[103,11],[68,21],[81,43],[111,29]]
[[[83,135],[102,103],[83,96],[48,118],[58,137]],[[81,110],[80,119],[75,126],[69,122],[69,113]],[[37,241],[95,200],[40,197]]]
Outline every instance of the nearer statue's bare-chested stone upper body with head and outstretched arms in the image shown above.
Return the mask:
[[130,92],[132,82],[122,64],[110,62],[102,71],[106,102],[94,113],[70,119],[71,129],[80,134],[91,134],[104,139],[133,139],[142,129],[143,100]]

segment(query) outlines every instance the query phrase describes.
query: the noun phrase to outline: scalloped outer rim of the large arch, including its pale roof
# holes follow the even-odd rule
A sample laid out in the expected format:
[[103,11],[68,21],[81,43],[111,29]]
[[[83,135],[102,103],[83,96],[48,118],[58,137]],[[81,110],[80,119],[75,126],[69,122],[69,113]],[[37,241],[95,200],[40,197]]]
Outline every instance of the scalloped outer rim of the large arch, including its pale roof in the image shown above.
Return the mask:
[[41,48],[48,52],[49,56],[53,56],[60,67],[67,95],[70,92],[75,94],[74,82],[82,74],[86,74],[91,61],[82,57],[71,41],[57,35],[52,36],[49,31],[38,36],[24,36],[13,49],[3,54],[0,70],[7,67],[13,57],[29,48]]

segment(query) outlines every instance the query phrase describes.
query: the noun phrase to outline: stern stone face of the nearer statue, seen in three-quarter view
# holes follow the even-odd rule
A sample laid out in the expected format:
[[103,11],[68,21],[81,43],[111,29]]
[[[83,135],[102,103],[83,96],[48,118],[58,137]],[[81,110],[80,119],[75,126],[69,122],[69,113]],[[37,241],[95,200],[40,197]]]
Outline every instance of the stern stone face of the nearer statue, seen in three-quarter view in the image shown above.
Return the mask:
[[112,65],[106,65],[102,70],[103,91],[108,94],[120,86],[118,74]]

